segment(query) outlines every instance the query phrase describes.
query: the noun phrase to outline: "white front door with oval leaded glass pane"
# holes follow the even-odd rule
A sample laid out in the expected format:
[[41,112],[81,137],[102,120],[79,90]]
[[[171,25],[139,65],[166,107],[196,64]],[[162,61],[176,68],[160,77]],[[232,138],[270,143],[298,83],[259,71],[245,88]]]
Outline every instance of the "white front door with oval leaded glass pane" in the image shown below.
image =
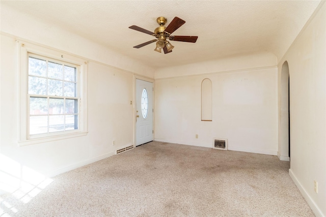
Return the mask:
[[136,146],[153,141],[153,83],[136,79]]

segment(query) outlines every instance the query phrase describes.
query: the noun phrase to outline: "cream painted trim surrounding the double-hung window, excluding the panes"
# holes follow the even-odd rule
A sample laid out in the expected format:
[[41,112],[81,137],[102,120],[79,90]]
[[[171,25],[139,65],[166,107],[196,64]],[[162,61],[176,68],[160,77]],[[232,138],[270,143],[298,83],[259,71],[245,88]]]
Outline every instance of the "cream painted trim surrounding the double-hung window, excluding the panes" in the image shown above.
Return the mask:
[[[18,46],[18,105],[19,105],[19,138],[20,146],[31,145],[43,142],[51,142],[61,139],[87,135],[87,61],[54,49],[17,41]],[[29,56],[40,56],[59,63],[65,62],[77,66],[77,98],[78,98],[78,129],[45,134],[29,135],[29,94],[28,94],[28,61]]]

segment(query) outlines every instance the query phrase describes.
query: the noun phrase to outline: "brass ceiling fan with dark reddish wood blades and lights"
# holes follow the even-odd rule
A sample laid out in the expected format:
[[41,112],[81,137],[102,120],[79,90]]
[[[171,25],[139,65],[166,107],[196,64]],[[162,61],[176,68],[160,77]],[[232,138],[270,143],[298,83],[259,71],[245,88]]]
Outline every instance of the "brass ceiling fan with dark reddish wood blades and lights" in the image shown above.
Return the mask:
[[161,49],[163,48],[164,53],[166,54],[172,52],[172,49],[174,48],[174,46],[169,41],[167,41],[167,39],[169,39],[170,41],[192,42],[192,43],[195,43],[197,41],[198,36],[172,36],[171,35],[175,30],[177,30],[181,25],[185,23],[185,21],[180,19],[179,17],[175,17],[167,27],[164,26],[167,23],[167,18],[165,17],[158,17],[156,19],[156,22],[160,26],[155,28],[154,33],[144,28],[141,28],[137,25],[129,26],[129,28],[131,29],[137,30],[142,33],[146,33],[156,38],[154,40],[145,42],[143,44],[134,46],[134,48],[141,48],[144,47],[145,45],[156,42],[156,48],[154,50],[157,52],[161,52]]

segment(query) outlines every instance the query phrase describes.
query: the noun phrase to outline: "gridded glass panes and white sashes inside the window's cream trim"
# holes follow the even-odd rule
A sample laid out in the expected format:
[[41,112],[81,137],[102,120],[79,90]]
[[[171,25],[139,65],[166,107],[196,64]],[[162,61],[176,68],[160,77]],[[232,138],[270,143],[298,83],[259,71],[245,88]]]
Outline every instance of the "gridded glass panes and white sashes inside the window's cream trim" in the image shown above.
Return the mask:
[[78,129],[77,67],[29,54],[29,135]]

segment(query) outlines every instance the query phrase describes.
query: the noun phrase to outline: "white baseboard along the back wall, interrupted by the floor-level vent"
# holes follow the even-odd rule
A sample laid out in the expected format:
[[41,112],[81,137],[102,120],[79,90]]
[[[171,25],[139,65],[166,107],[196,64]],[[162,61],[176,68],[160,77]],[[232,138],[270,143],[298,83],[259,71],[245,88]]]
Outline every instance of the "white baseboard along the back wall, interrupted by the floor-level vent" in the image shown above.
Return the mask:
[[[182,145],[193,145],[193,146],[200,146],[200,147],[207,147],[207,148],[211,148],[213,145],[212,143],[207,144],[207,143],[199,143],[199,142],[169,141],[167,139],[158,139],[158,138],[155,138],[154,141],[177,143],[177,144],[182,144]],[[268,155],[275,155],[275,156],[277,155],[277,151],[260,150],[260,149],[254,149],[254,148],[243,148],[243,147],[235,147],[235,146],[229,146],[229,145],[228,145],[228,150],[250,152],[250,153],[261,153],[261,154],[268,154]]]

